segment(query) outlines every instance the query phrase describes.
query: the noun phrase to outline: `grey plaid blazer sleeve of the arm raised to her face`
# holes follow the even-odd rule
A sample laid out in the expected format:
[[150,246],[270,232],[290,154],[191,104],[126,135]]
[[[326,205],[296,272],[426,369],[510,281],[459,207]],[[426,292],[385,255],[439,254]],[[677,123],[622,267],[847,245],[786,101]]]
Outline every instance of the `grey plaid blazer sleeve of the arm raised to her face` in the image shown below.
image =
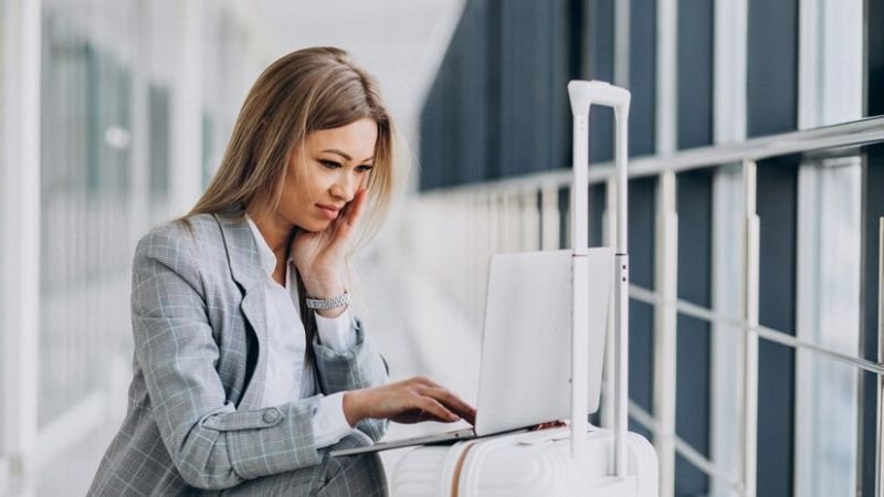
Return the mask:
[[[313,350],[323,393],[328,395],[387,383],[387,361],[378,351],[375,340],[366,335],[359,319],[356,319],[356,345],[348,350],[338,352],[322,345],[318,335],[313,338]],[[387,420],[367,417],[356,427],[378,442],[387,432],[388,423]]]

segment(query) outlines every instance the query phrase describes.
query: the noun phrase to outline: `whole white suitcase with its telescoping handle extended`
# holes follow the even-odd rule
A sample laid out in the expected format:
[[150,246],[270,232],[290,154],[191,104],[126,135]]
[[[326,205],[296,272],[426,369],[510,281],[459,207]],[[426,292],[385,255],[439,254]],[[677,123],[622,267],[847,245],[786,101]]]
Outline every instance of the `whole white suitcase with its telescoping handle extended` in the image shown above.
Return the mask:
[[[627,129],[630,94],[602,82],[572,81],[573,303],[571,420],[564,429],[501,435],[453,446],[420,447],[402,456],[391,478],[393,497],[641,496],[657,495],[651,444],[627,431],[629,256],[627,254]],[[617,240],[614,244],[613,430],[587,422],[588,141],[591,105],[613,107],[617,127]],[[481,406],[480,406],[481,409]]]

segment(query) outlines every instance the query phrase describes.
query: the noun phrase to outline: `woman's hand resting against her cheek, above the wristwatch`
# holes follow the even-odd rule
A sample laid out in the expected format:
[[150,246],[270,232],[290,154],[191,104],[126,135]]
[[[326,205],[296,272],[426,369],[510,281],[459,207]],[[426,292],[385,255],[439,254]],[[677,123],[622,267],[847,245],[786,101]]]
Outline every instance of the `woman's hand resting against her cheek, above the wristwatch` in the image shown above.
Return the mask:
[[[298,231],[292,241],[292,260],[311,297],[333,298],[344,294],[344,260],[354,232],[365,211],[368,191],[359,190],[327,229]],[[322,310],[324,317],[337,317],[344,308]]]

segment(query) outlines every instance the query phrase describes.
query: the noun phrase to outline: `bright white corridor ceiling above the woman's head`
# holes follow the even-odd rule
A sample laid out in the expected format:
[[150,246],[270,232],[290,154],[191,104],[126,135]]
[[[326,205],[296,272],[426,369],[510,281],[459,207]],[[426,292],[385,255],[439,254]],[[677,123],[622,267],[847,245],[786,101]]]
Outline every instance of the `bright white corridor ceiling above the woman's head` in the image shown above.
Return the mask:
[[424,95],[464,0],[253,0],[278,53],[312,45],[347,50],[381,85],[409,145]]

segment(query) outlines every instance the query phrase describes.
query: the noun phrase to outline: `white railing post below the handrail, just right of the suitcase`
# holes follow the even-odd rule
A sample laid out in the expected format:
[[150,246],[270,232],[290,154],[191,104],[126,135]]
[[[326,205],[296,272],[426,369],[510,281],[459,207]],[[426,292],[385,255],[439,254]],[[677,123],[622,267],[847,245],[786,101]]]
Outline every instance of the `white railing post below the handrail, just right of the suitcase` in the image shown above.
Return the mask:
[[662,297],[654,311],[654,446],[660,458],[660,495],[675,491],[676,317],[678,214],[675,173],[665,171],[657,186],[656,285]]

